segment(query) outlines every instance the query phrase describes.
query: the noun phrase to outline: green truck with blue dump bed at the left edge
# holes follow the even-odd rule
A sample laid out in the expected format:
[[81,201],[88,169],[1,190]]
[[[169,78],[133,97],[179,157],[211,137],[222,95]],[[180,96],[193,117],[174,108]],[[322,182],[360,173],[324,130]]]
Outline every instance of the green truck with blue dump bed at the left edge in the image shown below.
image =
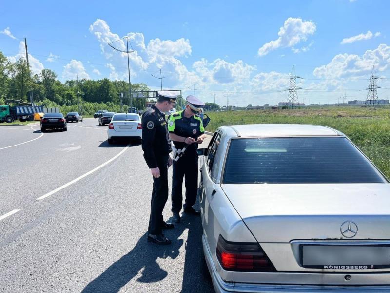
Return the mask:
[[9,106],[0,105],[0,123],[11,123],[16,120],[33,121],[34,113],[42,113],[43,106]]

